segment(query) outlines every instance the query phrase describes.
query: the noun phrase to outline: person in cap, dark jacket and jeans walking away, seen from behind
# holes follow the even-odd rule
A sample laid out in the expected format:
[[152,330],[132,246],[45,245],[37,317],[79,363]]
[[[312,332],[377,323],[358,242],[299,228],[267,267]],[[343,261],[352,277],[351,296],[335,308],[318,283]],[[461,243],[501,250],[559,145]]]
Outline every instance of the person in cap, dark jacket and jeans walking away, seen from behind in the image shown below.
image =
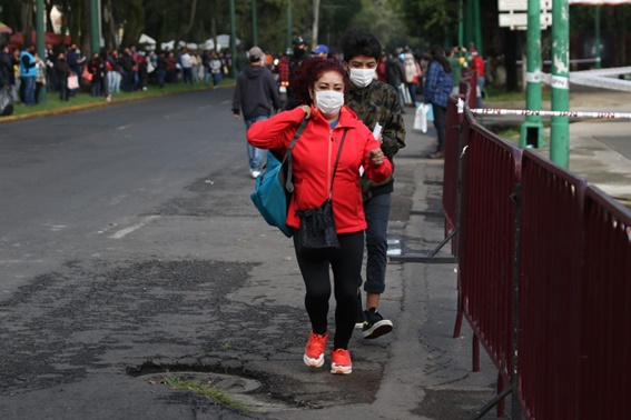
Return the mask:
[[[233,116],[236,120],[244,114],[246,130],[256,121],[266,120],[280,109],[278,89],[272,72],[264,66],[263,50],[258,47],[249,49],[249,66],[237,78],[233,93]],[[263,150],[247,143],[249,174],[256,178],[263,167]]]

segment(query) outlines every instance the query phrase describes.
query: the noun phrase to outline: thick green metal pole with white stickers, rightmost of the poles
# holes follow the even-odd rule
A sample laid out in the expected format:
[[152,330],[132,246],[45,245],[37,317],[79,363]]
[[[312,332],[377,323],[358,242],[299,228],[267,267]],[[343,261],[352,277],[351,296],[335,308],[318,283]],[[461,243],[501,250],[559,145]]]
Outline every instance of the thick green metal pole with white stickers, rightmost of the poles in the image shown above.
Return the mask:
[[[570,7],[568,0],[552,2],[552,110],[568,111],[570,102]],[[570,121],[552,117],[550,123],[550,160],[569,167]]]

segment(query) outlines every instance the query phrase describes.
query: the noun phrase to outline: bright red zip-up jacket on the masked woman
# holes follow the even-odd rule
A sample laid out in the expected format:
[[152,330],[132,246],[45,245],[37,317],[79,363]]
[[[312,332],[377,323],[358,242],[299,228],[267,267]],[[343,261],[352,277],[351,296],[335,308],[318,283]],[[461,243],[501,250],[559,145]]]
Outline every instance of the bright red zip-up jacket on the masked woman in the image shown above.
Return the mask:
[[[300,108],[295,108],[277,113],[268,120],[255,122],[247,132],[247,140],[257,148],[285,153],[304,117],[305,112]],[[392,163],[385,157],[381,166],[371,163],[368,153],[371,150],[379,149],[379,142],[346,106],[342,108],[339,122],[333,130],[319,110],[313,109],[305,131],[292,152],[295,191],[292,194],[289,209],[304,210],[319,207],[328,197],[327,162],[333,176],[339,141],[345,129],[347,129],[346,139],[333,181],[333,212],[337,233],[352,233],[366,229],[359,167],[364,167],[373,181],[383,182],[392,172]],[[331,158],[327,157],[329,139],[333,139]],[[287,226],[296,229],[300,226],[300,218],[295,211],[288,211]]]

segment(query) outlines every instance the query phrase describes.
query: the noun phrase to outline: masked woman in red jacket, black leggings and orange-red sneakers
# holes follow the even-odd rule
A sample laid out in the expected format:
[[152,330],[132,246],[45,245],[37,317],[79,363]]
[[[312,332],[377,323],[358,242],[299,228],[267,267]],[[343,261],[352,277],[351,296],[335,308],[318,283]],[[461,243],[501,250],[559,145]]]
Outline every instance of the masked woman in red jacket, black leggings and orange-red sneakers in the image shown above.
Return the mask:
[[[357,278],[364,257],[366,221],[359,171],[364,170],[375,182],[386,180],[392,172],[392,164],[384,157],[379,142],[355,112],[344,104],[347,87],[346,74],[339,63],[307,60],[292,82],[293,92],[302,104],[254,123],[247,132],[253,146],[283,154],[300,121],[305,117],[308,119],[292,152],[295,191],[289,209],[296,210],[317,208],[327,199],[328,182],[345,136],[337,171],[333,177],[333,209],[341,249],[335,256],[317,259],[296,253],[306,286],[305,307],[312,322],[303,360],[312,368],[324,364],[332,292],[331,267],[337,303],[331,372],[342,374],[352,371],[348,341],[355,327]],[[287,226],[297,231],[300,226],[297,211],[288,212]],[[297,244],[297,237],[294,234],[294,246]]]

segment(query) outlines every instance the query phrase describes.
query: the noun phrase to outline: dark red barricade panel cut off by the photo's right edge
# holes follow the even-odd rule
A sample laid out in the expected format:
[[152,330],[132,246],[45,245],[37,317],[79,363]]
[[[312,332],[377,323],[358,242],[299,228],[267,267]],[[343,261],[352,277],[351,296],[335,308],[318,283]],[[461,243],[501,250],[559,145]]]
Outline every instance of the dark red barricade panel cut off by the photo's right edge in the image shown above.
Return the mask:
[[578,419],[627,419],[631,397],[631,212],[585,190]]

